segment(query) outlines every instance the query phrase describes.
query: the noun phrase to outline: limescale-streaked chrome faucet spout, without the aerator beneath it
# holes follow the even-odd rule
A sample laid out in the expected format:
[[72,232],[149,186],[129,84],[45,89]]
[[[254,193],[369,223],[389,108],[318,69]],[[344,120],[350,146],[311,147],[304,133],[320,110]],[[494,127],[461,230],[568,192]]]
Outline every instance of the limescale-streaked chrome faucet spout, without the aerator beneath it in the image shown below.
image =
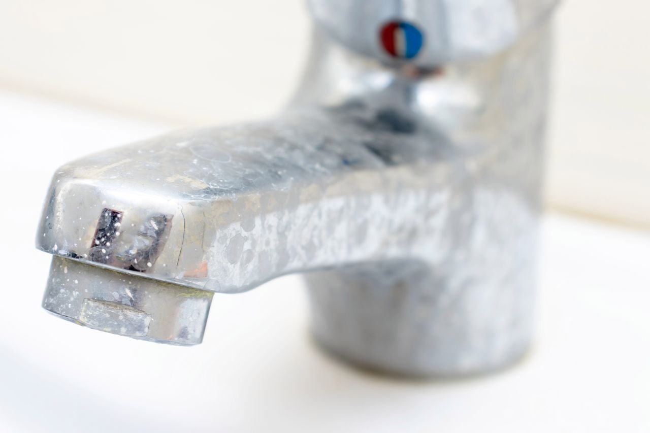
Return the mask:
[[[436,159],[430,134],[372,132],[354,111],[184,131],[68,164],[38,245],[218,293],[291,272],[444,256],[460,168]],[[400,122],[383,115],[388,127]]]

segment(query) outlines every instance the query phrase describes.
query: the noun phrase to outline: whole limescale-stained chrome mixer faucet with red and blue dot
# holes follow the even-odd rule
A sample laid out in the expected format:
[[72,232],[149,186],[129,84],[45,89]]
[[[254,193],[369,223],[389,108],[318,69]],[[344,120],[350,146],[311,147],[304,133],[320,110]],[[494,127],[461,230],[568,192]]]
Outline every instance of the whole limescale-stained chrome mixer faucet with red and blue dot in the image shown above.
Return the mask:
[[311,57],[279,116],[55,172],[44,308],[194,345],[213,297],[300,272],[315,341],[343,360],[512,364],[533,334],[554,3],[309,0]]

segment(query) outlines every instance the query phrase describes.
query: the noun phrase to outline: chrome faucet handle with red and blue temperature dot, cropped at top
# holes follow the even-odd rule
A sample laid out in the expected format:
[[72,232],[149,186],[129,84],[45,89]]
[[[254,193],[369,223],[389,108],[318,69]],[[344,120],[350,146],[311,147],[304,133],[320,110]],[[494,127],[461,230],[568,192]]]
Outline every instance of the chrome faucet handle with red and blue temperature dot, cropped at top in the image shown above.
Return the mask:
[[434,68],[510,46],[558,0],[307,0],[318,27],[362,55]]

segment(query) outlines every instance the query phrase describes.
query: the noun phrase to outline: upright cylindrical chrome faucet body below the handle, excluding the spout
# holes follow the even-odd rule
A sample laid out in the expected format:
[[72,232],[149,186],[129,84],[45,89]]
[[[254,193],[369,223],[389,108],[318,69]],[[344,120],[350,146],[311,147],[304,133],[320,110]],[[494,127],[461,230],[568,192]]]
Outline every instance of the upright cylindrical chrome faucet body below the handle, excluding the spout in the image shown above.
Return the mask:
[[[436,241],[417,260],[307,274],[318,343],[403,374],[473,374],[521,358],[533,330],[548,23],[487,56],[426,68],[404,62],[409,76],[385,75],[328,36],[315,38],[300,103],[346,107],[338,110],[375,130],[431,134],[432,159],[454,173],[437,197],[444,215],[439,233],[428,234]],[[400,144],[378,147],[389,155]],[[413,209],[402,198],[393,197],[395,211]]]

